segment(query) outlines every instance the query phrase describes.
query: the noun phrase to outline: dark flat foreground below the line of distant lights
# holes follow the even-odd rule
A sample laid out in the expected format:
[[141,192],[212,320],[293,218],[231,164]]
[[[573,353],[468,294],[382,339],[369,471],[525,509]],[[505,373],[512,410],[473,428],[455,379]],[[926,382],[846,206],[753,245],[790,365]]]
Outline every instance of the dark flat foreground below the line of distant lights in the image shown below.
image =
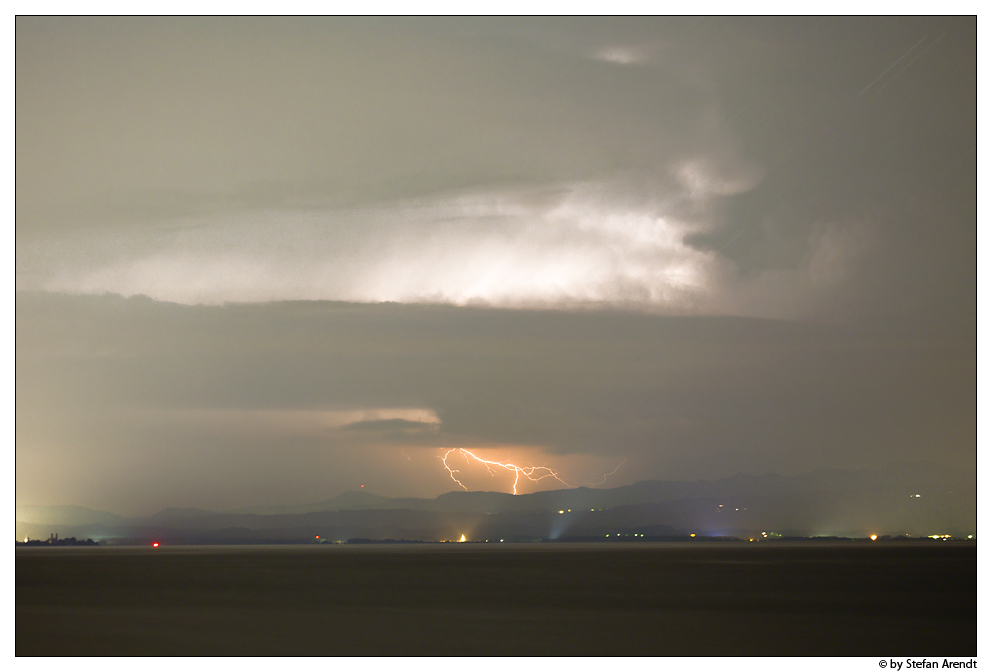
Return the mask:
[[977,655],[973,543],[19,548],[24,655]]

